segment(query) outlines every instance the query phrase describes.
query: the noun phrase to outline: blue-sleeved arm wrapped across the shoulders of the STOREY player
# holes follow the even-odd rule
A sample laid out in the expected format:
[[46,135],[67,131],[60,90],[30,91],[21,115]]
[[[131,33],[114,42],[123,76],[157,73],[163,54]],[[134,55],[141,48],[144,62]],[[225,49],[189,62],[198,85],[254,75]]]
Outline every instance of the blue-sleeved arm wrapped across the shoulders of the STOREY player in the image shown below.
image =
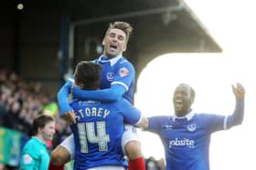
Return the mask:
[[80,100],[98,100],[102,102],[113,102],[123,97],[126,89],[123,85],[112,85],[111,88],[102,90],[81,90],[80,87],[73,87],[72,95]]

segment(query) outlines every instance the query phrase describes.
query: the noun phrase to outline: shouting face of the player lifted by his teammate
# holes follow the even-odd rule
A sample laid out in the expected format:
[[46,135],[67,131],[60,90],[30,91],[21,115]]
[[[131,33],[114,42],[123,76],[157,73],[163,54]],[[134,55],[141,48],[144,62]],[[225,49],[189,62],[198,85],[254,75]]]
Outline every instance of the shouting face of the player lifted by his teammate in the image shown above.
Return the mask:
[[104,45],[104,55],[107,57],[121,55],[126,50],[126,35],[123,30],[113,28],[105,35],[102,45]]

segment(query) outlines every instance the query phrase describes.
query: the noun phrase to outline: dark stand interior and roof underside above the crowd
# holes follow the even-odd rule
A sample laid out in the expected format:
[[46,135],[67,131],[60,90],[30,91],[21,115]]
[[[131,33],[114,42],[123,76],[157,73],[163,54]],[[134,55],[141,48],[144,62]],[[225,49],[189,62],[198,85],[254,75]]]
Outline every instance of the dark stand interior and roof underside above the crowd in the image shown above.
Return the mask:
[[[157,55],[221,52],[183,1],[6,1],[1,10],[0,65],[27,82],[57,91],[63,75],[101,54],[110,22],[133,25],[124,54],[137,75]],[[72,72],[73,70],[71,70]]]

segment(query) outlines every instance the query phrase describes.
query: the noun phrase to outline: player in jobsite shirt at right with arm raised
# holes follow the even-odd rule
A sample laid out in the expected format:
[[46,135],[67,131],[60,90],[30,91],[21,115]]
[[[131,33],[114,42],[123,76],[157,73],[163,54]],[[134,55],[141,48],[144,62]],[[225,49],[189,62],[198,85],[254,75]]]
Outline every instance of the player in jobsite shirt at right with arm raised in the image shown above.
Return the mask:
[[189,85],[180,84],[173,97],[175,115],[148,118],[144,128],[160,136],[165,146],[166,170],[209,169],[210,135],[240,125],[243,120],[245,90],[240,84],[232,88],[236,98],[232,115],[194,113],[191,105],[196,93]]

